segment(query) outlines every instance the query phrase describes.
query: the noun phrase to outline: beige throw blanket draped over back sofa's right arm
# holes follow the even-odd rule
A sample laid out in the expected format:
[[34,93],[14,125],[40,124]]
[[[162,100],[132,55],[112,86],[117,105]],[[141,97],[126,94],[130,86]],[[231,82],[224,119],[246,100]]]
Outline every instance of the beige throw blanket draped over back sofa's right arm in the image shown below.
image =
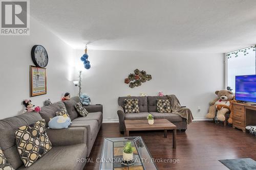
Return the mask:
[[187,124],[190,124],[192,122],[192,120],[194,119],[190,109],[186,108],[186,107],[181,107],[180,106],[180,102],[177,99],[176,95],[171,94],[171,95],[167,95],[169,101],[170,101],[170,105],[172,107],[172,113],[178,114],[181,117],[187,119]]

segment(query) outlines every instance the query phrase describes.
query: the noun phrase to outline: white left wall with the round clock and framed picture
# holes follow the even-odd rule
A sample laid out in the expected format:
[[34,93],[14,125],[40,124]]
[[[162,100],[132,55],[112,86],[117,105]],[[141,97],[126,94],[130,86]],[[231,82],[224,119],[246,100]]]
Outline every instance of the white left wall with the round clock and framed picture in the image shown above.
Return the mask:
[[[45,26],[31,18],[30,36],[0,36],[0,119],[19,114],[25,107],[24,99],[31,99],[36,106],[50,98],[60,101],[62,93],[74,93],[74,50]],[[49,56],[47,65],[47,94],[29,97],[29,66],[31,48],[43,45]]]

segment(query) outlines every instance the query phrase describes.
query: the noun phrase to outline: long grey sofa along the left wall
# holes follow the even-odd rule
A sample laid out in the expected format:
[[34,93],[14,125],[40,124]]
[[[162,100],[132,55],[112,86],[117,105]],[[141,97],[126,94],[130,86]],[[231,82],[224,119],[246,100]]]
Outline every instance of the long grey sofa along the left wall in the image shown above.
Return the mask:
[[[79,98],[75,97],[69,101],[57,102],[42,107],[39,114],[28,112],[0,120],[0,148],[2,148],[4,155],[14,169],[83,169],[86,161],[79,162],[77,159],[86,158],[90,155],[102,124],[102,105],[84,106],[89,111],[89,114],[87,117],[78,117],[73,104],[79,101]],[[55,111],[62,107],[66,107],[73,125],[65,129],[47,129],[47,135],[52,142],[53,148],[30,167],[25,168],[18,155],[14,131],[42,118],[46,120],[48,126],[50,117],[54,117]]]

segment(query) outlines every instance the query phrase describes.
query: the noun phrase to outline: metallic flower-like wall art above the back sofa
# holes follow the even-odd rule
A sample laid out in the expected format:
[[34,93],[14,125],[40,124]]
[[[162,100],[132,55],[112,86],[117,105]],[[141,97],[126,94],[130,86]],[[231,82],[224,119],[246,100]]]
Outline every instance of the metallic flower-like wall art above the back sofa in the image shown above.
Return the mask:
[[151,75],[147,75],[146,71],[135,69],[134,73],[131,73],[128,78],[124,79],[124,83],[129,84],[129,87],[134,88],[151,79]]

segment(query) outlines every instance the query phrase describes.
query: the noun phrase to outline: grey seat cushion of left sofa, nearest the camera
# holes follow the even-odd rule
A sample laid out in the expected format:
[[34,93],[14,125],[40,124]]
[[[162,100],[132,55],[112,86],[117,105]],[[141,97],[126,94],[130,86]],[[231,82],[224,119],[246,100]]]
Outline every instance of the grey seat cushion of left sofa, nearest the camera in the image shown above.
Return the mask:
[[84,163],[77,162],[79,158],[86,158],[87,145],[86,143],[53,147],[43,157],[38,159],[30,167],[24,165],[17,170],[70,170],[82,169]]

